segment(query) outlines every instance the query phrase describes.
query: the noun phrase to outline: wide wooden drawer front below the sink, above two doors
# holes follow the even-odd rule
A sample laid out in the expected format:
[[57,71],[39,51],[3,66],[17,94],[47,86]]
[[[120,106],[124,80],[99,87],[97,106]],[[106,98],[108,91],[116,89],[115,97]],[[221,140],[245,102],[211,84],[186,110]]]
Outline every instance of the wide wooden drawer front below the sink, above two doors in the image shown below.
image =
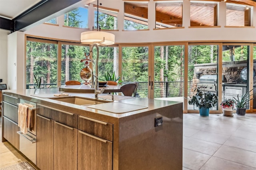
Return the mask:
[[36,113],[65,125],[77,128],[77,115],[60,109],[37,104]]

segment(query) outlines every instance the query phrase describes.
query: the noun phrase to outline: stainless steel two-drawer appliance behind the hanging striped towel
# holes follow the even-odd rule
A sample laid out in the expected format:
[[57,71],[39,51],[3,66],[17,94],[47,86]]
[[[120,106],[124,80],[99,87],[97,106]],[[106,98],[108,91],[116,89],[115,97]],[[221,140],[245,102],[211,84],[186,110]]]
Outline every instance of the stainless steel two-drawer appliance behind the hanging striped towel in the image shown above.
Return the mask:
[[23,99],[20,99],[20,103],[33,105],[33,107],[30,108],[32,109],[32,113],[28,133],[17,132],[20,135],[20,152],[36,164],[36,103]]

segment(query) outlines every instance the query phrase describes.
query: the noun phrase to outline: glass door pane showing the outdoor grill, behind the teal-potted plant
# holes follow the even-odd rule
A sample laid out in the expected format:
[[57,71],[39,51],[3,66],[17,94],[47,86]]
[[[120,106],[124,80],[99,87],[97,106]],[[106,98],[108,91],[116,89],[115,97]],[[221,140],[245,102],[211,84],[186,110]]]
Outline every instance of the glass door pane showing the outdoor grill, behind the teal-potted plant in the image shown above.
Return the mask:
[[[217,59],[218,45],[188,45],[188,96],[192,97],[198,87],[218,95]],[[198,110],[198,107],[188,105],[188,109]],[[218,104],[212,110],[218,110]]]

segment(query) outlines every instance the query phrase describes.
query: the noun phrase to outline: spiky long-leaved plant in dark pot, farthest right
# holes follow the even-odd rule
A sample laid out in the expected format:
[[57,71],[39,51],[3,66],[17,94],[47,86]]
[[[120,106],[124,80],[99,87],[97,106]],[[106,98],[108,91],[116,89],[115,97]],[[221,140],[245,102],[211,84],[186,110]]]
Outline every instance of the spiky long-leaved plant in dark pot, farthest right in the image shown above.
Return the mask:
[[[252,89],[253,90],[253,89]],[[247,91],[245,94],[242,95],[241,99],[239,98],[239,95],[236,97],[233,97],[236,106],[236,114],[237,115],[245,115],[246,111],[246,104],[249,104],[249,101],[252,100],[253,98],[250,98],[253,94],[250,95],[250,90],[249,92]]]

